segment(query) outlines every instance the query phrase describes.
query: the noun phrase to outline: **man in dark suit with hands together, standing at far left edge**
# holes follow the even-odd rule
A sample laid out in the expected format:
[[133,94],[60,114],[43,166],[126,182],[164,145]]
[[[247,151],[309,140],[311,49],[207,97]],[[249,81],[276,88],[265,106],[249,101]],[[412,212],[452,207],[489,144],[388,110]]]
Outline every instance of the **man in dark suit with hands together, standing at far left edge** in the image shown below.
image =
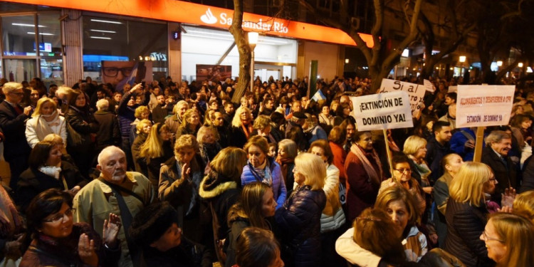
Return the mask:
[[4,132],[4,158],[11,169],[9,187],[15,189],[19,175],[28,168],[31,148],[26,141],[26,120],[30,118],[31,107],[22,108],[21,83],[5,83],[2,92],[6,99],[0,103],[0,127]]

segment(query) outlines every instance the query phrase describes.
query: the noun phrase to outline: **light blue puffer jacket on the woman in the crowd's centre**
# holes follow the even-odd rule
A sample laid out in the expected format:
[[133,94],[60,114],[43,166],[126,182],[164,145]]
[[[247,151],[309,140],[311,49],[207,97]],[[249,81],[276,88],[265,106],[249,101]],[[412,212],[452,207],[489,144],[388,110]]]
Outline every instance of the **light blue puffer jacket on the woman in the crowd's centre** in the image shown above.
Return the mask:
[[[267,157],[269,169],[271,169],[271,177],[273,178],[273,193],[274,199],[276,199],[276,209],[279,209],[284,201],[286,201],[286,184],[283,182],[282,169],[278,163],[274,161],[272,157]],[[251,182],[262,182],[261,177],[258,176],[251,162],[247,162],[243,167],[243,173],[241,173],[241,186],[250,184]]]

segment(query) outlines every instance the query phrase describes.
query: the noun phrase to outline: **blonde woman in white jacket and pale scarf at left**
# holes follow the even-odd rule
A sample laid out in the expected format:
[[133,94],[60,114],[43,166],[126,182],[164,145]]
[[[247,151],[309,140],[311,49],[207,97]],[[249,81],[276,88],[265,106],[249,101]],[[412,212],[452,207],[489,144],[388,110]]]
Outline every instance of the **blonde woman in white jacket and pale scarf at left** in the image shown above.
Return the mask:
[[37,101],[31,119],[26,122],[26,140],[33,148],[51,133],[60,135],[63,142],[67,142],[65,117],[59,115],[58,107],[53,99],[41,98]]

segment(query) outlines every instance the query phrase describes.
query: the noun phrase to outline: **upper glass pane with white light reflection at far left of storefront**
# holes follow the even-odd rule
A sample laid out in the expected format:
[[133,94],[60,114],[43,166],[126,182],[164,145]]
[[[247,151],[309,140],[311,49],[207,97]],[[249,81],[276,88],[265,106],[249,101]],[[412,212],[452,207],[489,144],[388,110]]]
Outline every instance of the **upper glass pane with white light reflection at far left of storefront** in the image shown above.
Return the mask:
[[[2,17],[4,56],[36,56],[34,18],[33,15]],[[40,28],[42,34],[46,33]]]

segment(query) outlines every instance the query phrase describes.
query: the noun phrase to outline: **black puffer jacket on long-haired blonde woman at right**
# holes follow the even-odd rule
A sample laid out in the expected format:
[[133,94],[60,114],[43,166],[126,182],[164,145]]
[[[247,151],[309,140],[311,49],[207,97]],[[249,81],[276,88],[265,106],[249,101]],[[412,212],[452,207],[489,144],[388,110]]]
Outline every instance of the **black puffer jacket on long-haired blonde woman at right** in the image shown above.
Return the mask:
[[486,204],[476,207],[449,198],[445,214],[445,251],[459,258],[468,267],[495,266],[495,262],[488,258],[486,244],[480,239],[488,214]]

